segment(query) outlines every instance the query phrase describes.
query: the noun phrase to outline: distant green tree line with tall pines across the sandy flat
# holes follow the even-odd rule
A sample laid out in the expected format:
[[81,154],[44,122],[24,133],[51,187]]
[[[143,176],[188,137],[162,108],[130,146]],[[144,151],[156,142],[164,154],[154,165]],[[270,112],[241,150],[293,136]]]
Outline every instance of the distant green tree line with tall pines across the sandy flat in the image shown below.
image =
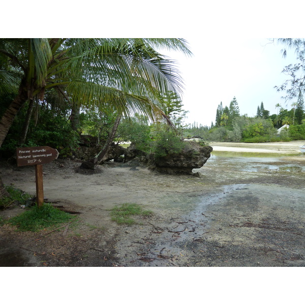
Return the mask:
[[[302,94],[300,92],[296,103],[292,103],[291,110],[275,105],[277,113],[271,114],[264,108],[263,102],[257,106],[257,114],[249,117],[240,114],[235,97],[229,107],[221,102],[216,111],[215,124],[210,127],[194,123],[185,129],[187,137],[201,137],[207,141],[233,142],[269,142],[305,140],[305,113]],[[278,134],[278,129],[288,125]]]

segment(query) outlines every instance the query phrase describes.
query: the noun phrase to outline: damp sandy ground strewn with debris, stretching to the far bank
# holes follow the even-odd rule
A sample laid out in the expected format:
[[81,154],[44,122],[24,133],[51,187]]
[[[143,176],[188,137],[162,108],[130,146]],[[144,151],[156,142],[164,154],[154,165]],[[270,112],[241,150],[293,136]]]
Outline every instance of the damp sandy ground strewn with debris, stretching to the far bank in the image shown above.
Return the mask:
[[[201,178],[128,163],[95,175],[76,173],[75,161],[45,164],[45,198],[81,212],[78,223],[65,236],[1,227],[0,266],[305,266],[302,144],[211,143],[215,155],[195,170]],[[3,163],[0,172],[6,185],[36,192],[34,167]],[[153,215],[117,225],[109,210],[123,203]]]

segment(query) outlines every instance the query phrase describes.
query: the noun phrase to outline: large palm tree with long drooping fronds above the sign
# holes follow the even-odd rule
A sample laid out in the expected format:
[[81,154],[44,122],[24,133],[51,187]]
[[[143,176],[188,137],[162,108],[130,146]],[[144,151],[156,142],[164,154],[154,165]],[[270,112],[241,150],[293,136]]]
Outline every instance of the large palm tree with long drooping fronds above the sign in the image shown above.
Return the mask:
[[0,147],[25,102],[53,87],[71,104],[170,124],[160,93],[180,95],[182,81],[154,47],[192,54],[183,39],[0,39],[0,93],[15,94],[0,120]]

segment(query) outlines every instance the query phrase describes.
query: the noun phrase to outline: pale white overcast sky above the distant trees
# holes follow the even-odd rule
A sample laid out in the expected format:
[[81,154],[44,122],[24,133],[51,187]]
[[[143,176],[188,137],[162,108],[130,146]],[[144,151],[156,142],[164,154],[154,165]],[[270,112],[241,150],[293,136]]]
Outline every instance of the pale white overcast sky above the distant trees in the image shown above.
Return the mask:
[[214,37],[207,41],[185,38],[193,52],[192,57],[177,52],[166,52],[177,60],[185,89],[182,96],[184,110],[189,111],[186,123],[196,121],[203,126],[215,123],[220,102],[223,107],[236,98],[240,114],[255,116],[263,102],[270,114],[277,113],[276,104],[291,109],[278,92],[289,77],[283,68],[296,62],[294,50],[283,58],[284,45],[270,43],[267,38]]

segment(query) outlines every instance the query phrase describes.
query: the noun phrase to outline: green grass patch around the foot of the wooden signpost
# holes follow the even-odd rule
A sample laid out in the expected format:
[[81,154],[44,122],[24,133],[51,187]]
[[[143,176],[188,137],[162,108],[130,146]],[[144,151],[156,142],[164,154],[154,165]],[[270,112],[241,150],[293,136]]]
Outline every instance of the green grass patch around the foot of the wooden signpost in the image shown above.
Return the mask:
[[10,219],[8,223],[17,226],[19,231],[37,232],[74,219],[76,219],[76,216],[61,211],[49,203],[44,203],[41,207],[35,205],[25,210],[22,214]]

